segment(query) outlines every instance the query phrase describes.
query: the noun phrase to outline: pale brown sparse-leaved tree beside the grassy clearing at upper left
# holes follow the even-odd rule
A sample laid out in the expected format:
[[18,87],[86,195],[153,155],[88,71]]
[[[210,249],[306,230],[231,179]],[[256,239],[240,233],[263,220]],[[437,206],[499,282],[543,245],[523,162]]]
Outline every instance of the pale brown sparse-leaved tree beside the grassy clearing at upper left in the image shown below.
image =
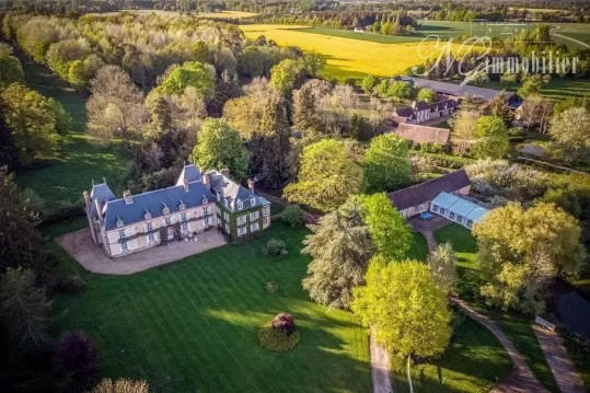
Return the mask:
[[124,146],[130,148],[130,138],[141,130],[149,117],[143,94],[117,66],[101,68],[90,86],[89,130],[103,140],[122,138]]

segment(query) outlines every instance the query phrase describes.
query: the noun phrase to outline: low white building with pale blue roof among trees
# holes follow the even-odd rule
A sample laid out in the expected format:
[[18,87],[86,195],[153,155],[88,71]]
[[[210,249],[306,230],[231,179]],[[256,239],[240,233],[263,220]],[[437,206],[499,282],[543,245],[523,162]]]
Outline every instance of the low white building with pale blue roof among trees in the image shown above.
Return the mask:
[[430,211],[472,229],[474,223],[484,219],[489,209],[456,195],[440,193],[430,203]]

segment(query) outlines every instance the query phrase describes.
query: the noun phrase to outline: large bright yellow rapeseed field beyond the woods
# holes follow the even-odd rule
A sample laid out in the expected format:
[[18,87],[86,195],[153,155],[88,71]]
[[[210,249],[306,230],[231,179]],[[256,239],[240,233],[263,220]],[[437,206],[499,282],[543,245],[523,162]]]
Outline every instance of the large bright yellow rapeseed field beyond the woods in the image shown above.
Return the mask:
[[[322,77],[336,78],[344,81],[347,78],[360,79],[366,74],[378,77],[395,76],[408,67],[424,63],[424,56],[438,58],[440,51],[437,43],[398,43],[379,44],[370,41],[334,37],[321,34],[300,32],[304,26],[286,25],[242,25],[240,26],[248,38],[264,35],[281,46],[298,46],[305,51],[315,50],[328,57],[326,69]],[[361,33],[359,33],[361,34]],[[452,44],[452,50],[458,45]],[[438,45],[439,47],[442,44]],[[419,50],[418,50],[419,49]]]

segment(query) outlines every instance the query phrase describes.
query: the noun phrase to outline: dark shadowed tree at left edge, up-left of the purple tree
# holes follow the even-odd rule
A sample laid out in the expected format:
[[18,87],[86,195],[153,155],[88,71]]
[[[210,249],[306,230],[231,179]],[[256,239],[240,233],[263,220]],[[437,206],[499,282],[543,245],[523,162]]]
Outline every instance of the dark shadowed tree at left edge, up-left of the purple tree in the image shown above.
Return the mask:
[[32,270],[8,268],[0,276],[0,322],[16,348],[39,350],[47,346],[50,311],[51,303],[45,290],[35,287]]

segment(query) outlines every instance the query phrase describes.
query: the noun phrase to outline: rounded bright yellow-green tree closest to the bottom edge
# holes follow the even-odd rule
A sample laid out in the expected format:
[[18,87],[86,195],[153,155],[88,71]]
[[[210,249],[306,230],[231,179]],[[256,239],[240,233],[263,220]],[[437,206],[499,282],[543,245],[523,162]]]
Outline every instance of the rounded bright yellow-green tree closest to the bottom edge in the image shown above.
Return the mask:
[[451,337],[447,293],[417,261],[387,263],[374,257],[367,285],[354,292],[352,312],[373,326],[377,342],[400,358],[441,354]]

